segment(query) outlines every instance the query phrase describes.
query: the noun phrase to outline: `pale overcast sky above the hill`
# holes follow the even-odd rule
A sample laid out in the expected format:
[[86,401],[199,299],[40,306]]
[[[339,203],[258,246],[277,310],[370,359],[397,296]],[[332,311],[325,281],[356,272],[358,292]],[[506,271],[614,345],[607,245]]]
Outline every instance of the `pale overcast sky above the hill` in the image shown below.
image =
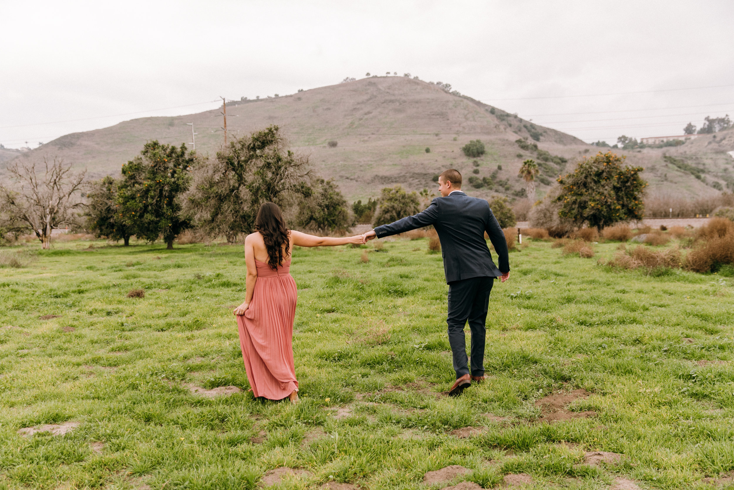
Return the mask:
[[734,115],[730,0],[0,0],[0,12],[8,148],[386,71],[587,142]]

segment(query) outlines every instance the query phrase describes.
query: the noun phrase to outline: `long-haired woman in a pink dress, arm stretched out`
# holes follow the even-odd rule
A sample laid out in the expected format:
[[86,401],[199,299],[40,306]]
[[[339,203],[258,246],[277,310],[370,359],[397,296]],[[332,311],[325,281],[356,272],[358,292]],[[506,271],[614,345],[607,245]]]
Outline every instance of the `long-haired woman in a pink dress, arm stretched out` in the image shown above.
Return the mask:
[[247,293],[234,310],[239,327],[244,368],[255,397],[298,401],[293,362],[293,320],[296,281],[289,269],[291,251],[299,247],[333,247],[364,243],[362,235],[349,238],[314,237],[288,230],[280,208],[264,203],[255,217],[255,233],[244,239]]

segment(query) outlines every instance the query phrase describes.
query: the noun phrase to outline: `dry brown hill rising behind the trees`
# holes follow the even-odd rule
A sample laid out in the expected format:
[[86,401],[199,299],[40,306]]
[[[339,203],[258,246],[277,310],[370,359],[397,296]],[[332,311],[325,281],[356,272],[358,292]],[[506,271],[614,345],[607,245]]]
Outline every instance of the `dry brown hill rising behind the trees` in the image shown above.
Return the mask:
[[[376,197],[380,188],[393,184],[410,190],[432,188],[432,177],[448,167],[457,168],[465,179],[491,179],[491,187],[470,188],[473,195],[521,197],[523,181],[517,177],[521,162],[545,155],[538,186],[538,195],[543,195],[576,159],[599,150],[498,107],[407,77],[371,77],[290,96],[228,102],[227,110],[230,137],[271,124],[281,126],[294,151],[308,155],[321,176],[333,178],[350,200]],[[139,118],[67,134],[17,158],[57,156],[75,167],[86,167],[95,178],[115,175],[147,140],[188,143],[191,126],[186,123],[195,125],[197,151],[214,154],[223,140],[220,111]],[[713,181],[728,182],[724,176],[732,159],[725,151],[734,150],[734,138],[712,136],[676,148],[619,152],[627,154],[631,164],[646,167],[644,176],[652,192],[714,195],[720,191],[712,187]],[[518,138],[536,143],[540,153],[527,145],[520,148],[515,143]],[[462,146],[476,139],[482,140],[486,153],[477,159],[465,157]],[[329,141],[337,145],[332,148]],[[685,166],[670,165],[663,159],[666,154],[697,162],[706,170],[705,180],[697,179]],[[567,163],[552,156],[561,156]],[[4,165],[7,162],[0,162]]]

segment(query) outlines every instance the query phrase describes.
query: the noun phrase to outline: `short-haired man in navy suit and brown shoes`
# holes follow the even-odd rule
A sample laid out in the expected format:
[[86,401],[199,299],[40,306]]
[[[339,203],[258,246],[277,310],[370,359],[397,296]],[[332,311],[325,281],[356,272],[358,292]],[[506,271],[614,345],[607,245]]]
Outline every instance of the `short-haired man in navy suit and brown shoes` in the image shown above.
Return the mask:
[[[440,198],[435,198],[424,212],[404,217],[389,225],[368,231],[365,241],[433,225],[438,232],[443,256],[443,270],[448,284],[448,342],[454,355],[457,380],[449,396],[458,396],[471,381],[484,381],[484,336],[487,305],[495,278],[509,278],[507,242],[489,204],[484,199],[470,198],[461,190],[458,170],[444,170],[438,177]],[[484,240],[490,237],[499,259]],[[467,366],[464,325],[471,328],[471,370]]]

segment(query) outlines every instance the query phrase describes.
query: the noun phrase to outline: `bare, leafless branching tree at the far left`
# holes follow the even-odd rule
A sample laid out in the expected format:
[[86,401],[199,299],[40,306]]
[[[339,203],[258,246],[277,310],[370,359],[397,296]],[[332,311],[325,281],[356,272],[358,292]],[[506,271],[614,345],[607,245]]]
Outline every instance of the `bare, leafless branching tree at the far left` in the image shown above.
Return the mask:
[[55,158],[52,163],[44,158],[38,169],[35,162],[23,162],[7,170],[12,184],[0,184],[4,228],[16,233],[32,231],[41,248],[50,248],[51,230],[79,220],[75,210],[84,206],[81,190],[87,171],[72,173],[71,165]]

